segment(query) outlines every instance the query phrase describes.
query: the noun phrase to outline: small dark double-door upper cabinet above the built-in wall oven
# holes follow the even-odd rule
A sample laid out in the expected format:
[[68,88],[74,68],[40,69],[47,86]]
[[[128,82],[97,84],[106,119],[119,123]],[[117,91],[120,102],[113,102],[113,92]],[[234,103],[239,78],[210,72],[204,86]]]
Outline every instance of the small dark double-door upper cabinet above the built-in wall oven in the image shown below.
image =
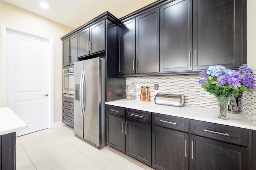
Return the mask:
[[73,65],[77,61],[77,34],[63,40],[63,66]]

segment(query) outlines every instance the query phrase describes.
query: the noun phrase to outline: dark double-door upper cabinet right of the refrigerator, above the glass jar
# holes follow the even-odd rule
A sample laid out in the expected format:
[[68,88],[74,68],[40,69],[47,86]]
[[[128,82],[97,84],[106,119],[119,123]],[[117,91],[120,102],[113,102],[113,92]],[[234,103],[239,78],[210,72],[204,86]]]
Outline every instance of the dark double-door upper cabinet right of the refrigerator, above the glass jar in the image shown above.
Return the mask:
[[159,9],[118,27],[118,74],[159,72]]

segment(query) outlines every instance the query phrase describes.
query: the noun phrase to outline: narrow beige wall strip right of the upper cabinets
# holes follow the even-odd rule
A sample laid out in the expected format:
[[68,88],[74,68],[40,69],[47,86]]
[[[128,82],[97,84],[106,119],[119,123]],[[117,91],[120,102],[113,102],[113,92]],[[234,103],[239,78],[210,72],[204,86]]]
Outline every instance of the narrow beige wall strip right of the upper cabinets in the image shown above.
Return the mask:
[[247,0],[247,64],[256,69],[256,0]]

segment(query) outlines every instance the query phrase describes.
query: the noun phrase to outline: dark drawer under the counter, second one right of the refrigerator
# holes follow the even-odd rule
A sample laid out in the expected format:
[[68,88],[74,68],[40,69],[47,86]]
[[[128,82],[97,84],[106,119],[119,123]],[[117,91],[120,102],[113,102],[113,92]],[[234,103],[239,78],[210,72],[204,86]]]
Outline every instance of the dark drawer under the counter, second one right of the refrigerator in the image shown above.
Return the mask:
[[126,118],[151,123],[151,112],[125,109]]

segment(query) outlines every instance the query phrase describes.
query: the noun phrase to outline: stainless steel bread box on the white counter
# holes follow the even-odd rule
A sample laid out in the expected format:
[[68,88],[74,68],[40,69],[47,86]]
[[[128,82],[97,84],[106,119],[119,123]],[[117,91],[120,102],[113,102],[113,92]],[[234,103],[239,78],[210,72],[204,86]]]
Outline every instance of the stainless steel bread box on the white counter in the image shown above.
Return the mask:
[[158,104],[158,105],[182,107],[182,105],[184,105],[184,95],[157,93],[154,101],[155,101],[155,104]]

